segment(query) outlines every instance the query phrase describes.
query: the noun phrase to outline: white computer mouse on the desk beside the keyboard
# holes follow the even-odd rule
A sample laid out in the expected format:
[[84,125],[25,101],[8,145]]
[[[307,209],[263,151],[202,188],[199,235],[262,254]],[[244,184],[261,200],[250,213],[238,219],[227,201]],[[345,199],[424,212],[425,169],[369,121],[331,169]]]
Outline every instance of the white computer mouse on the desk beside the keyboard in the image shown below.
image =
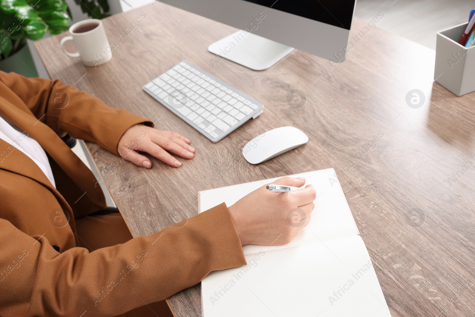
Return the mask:
[[293,126],[282,126],[247,142],[242,154],[247,162],[259,164],[308,142],[308,136]]

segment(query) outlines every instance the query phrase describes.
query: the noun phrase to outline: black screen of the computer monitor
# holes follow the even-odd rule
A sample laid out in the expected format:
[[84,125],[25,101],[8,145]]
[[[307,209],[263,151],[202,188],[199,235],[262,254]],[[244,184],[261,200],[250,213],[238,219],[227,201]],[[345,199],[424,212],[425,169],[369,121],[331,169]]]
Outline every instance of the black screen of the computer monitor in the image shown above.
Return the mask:
[[245,0],[343,29],[352,25],[355,0]]

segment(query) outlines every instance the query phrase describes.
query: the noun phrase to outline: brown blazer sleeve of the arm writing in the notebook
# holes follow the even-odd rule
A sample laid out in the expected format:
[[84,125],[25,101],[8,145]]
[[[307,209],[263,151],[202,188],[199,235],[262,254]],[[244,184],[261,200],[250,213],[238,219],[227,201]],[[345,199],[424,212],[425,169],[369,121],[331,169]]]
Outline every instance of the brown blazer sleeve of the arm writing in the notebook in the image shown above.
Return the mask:
[[0,219],[0,316],[117,316],[246,265],[226,204],[149,236],[55,251]]

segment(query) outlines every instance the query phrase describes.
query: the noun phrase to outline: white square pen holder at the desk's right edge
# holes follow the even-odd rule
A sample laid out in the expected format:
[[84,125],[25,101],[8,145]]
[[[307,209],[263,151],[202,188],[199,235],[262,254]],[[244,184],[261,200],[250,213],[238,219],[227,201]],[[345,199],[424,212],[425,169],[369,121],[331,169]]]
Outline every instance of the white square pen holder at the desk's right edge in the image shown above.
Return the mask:
[[467,23],[437,32],[434,79],[456,96],[475,91],[475,47],[458,44]]

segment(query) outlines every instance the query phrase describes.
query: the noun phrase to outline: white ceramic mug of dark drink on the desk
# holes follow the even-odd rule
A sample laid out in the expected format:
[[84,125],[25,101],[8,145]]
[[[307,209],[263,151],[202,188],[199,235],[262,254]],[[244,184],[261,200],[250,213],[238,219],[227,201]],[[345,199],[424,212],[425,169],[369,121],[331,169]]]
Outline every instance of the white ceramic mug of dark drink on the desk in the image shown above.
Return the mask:
[[[75,30],[86,25],[97,24],[97,27],[86,32],[77,33]],[[80,57],[85,66],[97,67],[107,63],[112,58],[112,48],[105,35],[104,25],[101,20],[87,19],[73,24],[69,28],[71,36],[61,39],[61,48],[70,57]],[[70,53],[64,48],[64,43],[74,40],[77,52]]]

